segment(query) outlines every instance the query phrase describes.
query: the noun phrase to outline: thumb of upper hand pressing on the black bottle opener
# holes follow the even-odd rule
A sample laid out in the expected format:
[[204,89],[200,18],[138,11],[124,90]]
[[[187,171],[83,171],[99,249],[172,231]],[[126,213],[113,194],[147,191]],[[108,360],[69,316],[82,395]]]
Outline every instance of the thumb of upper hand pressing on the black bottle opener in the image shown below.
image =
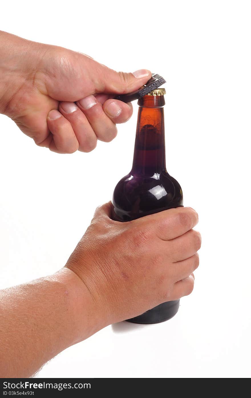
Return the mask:
[[152,76],[150,70],[139,69],[133,73],[116,72],[113,69],[99,64],[98,76],[100,77],[100,87],[107,94],[126,94],[138,90]]

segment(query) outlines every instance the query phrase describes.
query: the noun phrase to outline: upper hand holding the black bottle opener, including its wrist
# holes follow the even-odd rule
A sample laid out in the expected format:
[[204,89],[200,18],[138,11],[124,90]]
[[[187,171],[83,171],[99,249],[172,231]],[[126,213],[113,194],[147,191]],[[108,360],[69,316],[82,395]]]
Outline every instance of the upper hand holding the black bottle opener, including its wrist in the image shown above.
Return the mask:
[[131,103],[114,100],[151,77],[115,72],[87,55],[0,32],[0,113],[39,146],[58,153],[90,152],[116,137]]

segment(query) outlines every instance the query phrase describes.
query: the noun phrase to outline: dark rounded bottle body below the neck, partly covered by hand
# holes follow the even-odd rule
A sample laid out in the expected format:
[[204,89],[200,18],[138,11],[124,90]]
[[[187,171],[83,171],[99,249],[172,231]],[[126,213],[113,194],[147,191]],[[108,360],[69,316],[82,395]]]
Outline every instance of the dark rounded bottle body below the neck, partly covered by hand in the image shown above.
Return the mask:
[[[122,222],[131,221],[182,206],[180,190],[179,183],[164,173],[145,178],[130,173],[116,185],[112,200],[112,218]],[[170,200],[171,196],[175,200]],[[178,312],[179,306],[180,300],[168,301],[128,321],[140,324],[163,322],[172,318]]]

